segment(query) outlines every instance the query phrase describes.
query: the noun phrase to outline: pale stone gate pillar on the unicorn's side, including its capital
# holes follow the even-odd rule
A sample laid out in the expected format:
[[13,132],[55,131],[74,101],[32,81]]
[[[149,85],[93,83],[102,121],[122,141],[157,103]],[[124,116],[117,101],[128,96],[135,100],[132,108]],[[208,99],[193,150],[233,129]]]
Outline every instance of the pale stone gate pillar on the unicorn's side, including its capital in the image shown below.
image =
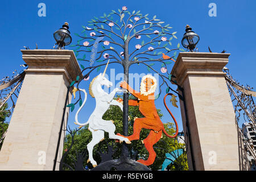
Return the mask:
[[[0,171],[52,170],[67,86],[81,71],[73,51],[34,49],[22,53],[28,69],[0,152]],[[67,119],[68,109],[63,129]],[[57,161],[62,155],[64,134]]]

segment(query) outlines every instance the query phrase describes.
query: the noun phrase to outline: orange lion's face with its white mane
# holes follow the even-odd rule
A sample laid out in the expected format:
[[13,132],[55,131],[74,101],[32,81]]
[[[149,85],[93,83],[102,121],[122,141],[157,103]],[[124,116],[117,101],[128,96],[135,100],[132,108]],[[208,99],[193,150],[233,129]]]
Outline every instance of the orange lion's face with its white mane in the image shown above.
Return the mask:
[[141,94],[147,96],[148,94],[154,93],[156,90],[156,79],[151,75],[142,77],[141,81]]

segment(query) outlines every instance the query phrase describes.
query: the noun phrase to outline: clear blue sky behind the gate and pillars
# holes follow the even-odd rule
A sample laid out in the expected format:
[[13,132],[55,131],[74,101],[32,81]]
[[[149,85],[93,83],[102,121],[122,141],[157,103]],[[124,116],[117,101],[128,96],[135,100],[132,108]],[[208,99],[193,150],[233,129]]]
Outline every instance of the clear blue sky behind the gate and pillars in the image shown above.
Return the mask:
[[[38,4],[46,4],[46,17],[38,16]],[[209,3],[216,3],[217,16],[210,17]],[[81,26],[86,26],[87,21],[93,16],[108,14],[111,10],[122,9],[127,6],[129,11],[141,10],[141,13],[149,14],[170,24],[176,31],[177,40],[173,42],[174,48],[189,24],[193,31],[200,36],[197,45],[200,52],[209,52],[208,46],[213,52],[221,52],[223,49],[230,53],[229,63],[234,78],[243,84],[249,84],[255,88],[255,65],[256,65],[256,2],[255,1],[220,1],[220,0],[197,0],[197,1],[2,1],[0,7],[0,40],[1,47],[1,72],[0,77],[11,75],[14,69],[19,69],[24,64],[20,49],[23,46],[39,49],[51,49],[55,40],[53,32],[61,27],[64,22],[69,23],[69,30],[73,42],[77,41],[75,33],[82,31]],[[172,47],[171,47],[172,48]],[[72,49],[72,47],[66,47]],[[84,64],[86,67],[86,64]],[[173,65],[173,64],[172,64]],[[171,70],[172,65],[168,68]],[[115,73],[121,73],[122,67],[113,65]],[[142,65],[131,68],[131,72],[148,73]],[[110,73],[108,69],[107,73]],[[98,73],[94,72],[91,78]],[[88,83],[82,86],[88,90]],[[172,87],[176,89],[175,86]],[[163,89],[165,90],[165,89]],[[156,107],[162,109],[163,122],[172,121],[163,105],[164,94],[156,100]],[[88,97],[88,104],[94,104],[93,98]],[[85,106],[86,107],[86,106]],[[182,130],[180,108],[170,106]],[[88,107],[87,107],[88,108]],[[76,108],[78,109],[78,108]],[[76,111],[76,110],[75,110]],[[75,111],[73,111],[75,113]],[[92,113],[93,107],[84,109],[80,115],[83,121]],[[73,126],[73,113],[69,123]]]

